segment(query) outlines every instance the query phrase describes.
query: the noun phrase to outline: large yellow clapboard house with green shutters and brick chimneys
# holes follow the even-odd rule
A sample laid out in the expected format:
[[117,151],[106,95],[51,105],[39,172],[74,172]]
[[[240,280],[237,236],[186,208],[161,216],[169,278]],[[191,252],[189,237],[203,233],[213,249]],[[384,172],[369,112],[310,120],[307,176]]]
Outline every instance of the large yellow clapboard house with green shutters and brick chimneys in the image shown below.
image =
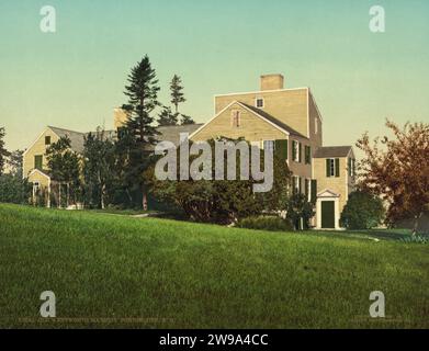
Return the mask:
[[[115,129],[126,114],[116,109]],[[284,89],[282,75],[261,77],[260,90],[215,97],[214,117],[205,124],[159,127],[159,140],[179,144],[181,133],[194,141],[219,136],[245,138],[260,148],[284,147],[293,188],[314,201],[314,227],[339,229],[339,218],[354,185],[354,154],[351,146],[323,145],[323,117],[309,88]],[[113,135],[115,132],[112,132]],[[53,180],[46,169],[46,149],[67,135],[71,148],[83,149],[87,133],[46,127],[24,152],[23,174],[33,183],[34,192],[50,192]],[[282,143],[276,143],[283,140]],[[47,196],[48,205],[50,196]]]

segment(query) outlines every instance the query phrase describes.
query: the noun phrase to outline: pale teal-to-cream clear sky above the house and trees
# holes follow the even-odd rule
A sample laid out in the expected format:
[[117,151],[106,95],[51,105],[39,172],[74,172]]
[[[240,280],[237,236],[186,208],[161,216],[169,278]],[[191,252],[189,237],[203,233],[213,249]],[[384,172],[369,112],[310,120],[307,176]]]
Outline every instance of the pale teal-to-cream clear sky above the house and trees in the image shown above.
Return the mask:
[[[53,5],[57,32],[39,30]],[[383,5],[386,32],[369,30]],[[213,95],[255,91],[280,72],[311,87],[325,145],[353,145],[386,117],[429,121],[429,1],[426,0],[0,0],[0,126],[24,149],[46,125],[81,132],[126,102],[126,76],[145,54],[168,103],[182,77],[182,112],[213,116]]]

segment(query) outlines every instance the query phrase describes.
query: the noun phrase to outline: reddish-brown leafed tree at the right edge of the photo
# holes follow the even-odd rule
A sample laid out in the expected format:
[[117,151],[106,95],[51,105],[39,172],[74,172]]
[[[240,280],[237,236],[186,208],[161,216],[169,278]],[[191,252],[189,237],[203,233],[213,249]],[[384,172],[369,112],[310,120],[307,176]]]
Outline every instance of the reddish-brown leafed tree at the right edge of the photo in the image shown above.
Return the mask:
[[394,137],[364,134],[357,146],[365,157],[360,163],[361,186],[390,204],[387,222],[415,218],[414,233],[429,210],[429,124],[407,123],[403,128],[387,120]]

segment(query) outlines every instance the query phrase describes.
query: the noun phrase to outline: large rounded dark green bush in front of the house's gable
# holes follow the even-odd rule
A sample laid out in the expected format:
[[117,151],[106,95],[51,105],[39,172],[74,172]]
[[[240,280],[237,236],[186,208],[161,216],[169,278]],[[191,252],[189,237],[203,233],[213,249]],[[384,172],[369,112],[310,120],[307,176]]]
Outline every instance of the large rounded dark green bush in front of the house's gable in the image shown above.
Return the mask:
[[[233,141],[228,138],[218,138],[216,141]],[[155,177],[155,167],[146,174],[151,194],[166,203],[172,203],[184,211],[189,218],[202,223],[230,224],[240,218],[261,214],[262,211],[279,212],[284,211],[289,200],[289,186],[291,172],[287,165],[280,156],[274,156],[274,181],[273,188],[267,193],[253,193],[253,184],[257,182],[251,177],[248,180],[240,180],[240,154],[236,152],[236,174],[238,180],[214,180],[215,169],[215,140],[207,141],[211,146],[212,161],[210,165],[210,174],[212,180],[158,180]],[[181,146],[183,147],[183,146]],[[192,147],[192,143],[190,145]],[[249,145],[250,147],[250,145]],[[180,148],[177,151],[179,158]],[[200,155],[192,156],[193,160],[199,159]],[[263,155],[262,165],[263,165]],[[227,165],[227,155],[224,154],[223,165]],[[179,162],[178,162],[179,163]],[[250,168],[251,162],[248,167]],[[180,169],[177,168],[177,179],[180,179]]]

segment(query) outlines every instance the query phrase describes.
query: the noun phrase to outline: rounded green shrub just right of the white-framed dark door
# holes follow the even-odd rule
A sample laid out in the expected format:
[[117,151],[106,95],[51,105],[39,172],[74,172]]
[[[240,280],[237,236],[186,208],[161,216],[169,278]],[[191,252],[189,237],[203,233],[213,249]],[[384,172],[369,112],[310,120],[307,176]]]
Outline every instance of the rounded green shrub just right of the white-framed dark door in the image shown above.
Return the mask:
[[340,218],[347,229],[371,229],[380,225],[384,217],[383,202],[380,197],[355,191],[350,194]]

